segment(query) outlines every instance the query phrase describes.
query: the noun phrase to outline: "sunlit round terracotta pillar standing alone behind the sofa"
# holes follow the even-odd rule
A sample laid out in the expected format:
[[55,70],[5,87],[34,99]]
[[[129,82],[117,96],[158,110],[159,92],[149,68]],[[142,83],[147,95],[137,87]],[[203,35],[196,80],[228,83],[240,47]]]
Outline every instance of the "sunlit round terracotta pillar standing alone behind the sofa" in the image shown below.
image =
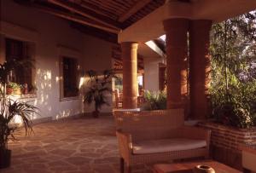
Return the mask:
[[123,108],[137,108],[137,46],[138,43],[121,43],[123,59]]

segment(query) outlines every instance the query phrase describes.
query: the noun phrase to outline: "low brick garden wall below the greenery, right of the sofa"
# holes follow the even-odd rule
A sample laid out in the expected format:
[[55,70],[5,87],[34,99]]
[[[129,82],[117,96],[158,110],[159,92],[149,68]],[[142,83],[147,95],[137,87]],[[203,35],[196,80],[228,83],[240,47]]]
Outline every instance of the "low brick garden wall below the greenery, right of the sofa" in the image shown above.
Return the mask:
[[256,128],[242,130],[215,123],[200,123],[212,130],[212,158],[241,170],[241,144],[256,144]]

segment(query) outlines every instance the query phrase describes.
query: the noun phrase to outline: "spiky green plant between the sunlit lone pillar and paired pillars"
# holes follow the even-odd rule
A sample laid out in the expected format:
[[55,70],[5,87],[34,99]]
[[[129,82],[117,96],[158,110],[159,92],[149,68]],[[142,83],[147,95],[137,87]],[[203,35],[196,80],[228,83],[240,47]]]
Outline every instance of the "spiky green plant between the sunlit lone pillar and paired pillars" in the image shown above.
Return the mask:
[[163,110],[166,109],[166,91],[153,91],[146,90],[144,92],[146,103],[143,104],[145,110]]

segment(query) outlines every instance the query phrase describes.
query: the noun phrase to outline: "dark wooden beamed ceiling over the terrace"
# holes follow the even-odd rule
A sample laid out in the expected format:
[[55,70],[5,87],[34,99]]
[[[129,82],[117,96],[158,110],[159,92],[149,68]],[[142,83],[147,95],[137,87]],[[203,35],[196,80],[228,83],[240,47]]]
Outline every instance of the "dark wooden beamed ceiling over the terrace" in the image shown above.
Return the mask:
[[[119,31],[159,8],[165,0],[14,0],[16,3],[68,20],[80,32],[117,44]],[[114,66],[122,67],[117,45]],[[119,48],[118,48],[119,49]],[[143,69],[143,61],[138,68]]]

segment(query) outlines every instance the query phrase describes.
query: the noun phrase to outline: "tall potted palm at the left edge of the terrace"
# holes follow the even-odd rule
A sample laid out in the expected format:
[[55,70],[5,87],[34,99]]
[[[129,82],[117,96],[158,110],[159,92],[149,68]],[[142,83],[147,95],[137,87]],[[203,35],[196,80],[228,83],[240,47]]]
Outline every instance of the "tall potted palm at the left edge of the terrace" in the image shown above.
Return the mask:
[[[25,128],[26,135],[29,135],[32,132],[31,118],[38,114],[38,108],[29,102],[14,101],[6,95],[9,72],[25,64],[27,65],[15,60],[0,64],[0,169],[10,165],[11,151],[8,148],[8,141],[16,140],[15,132],[20,130],[20,125]],[[16,124],[16,118],[20,119],[19,124]]]

